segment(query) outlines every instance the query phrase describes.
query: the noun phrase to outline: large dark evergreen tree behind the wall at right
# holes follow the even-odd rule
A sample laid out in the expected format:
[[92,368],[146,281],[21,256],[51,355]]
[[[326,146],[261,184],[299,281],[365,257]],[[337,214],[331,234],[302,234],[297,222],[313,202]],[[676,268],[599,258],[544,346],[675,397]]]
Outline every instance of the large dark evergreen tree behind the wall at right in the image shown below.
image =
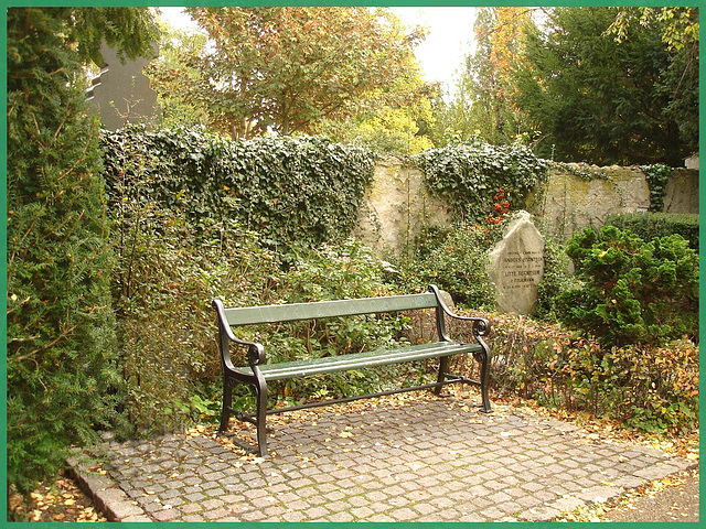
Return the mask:
[[607,36],[616,8],[545,12],[545,32],[527,35],[527,64],[517,72],[514,97],[544,134],[539,154],[599,164],[681,164],[692,145],[670,111],[684,95],[664,89],[675,57],[662,29],[627,20],[630,37],[617,42]]

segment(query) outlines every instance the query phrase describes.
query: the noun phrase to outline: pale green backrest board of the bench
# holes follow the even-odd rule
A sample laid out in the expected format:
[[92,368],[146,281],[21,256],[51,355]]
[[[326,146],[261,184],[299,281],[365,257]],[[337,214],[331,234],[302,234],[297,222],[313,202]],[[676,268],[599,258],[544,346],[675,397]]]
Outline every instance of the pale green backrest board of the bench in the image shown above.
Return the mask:
[[259,323],[295,322],[319,317],[354,316],[383,312],[436,309],[437,296],[432,292],[385,298],[363,298],[357,300],[317,301],[312,303],[289,303],[225,309],[229,325],[252,325]]

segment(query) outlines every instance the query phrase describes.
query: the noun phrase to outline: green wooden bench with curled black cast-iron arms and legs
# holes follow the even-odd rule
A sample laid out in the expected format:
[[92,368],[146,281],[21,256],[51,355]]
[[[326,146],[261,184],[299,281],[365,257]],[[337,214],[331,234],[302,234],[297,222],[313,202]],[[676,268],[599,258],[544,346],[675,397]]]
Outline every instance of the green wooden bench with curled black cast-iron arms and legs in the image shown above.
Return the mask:
[[[221,349],[221,364],[223,368],[223,411],[221,414],[220,433],[225,433],[228,420],[234,415],[240,421],[248,421],[257,427],[257,453],[264,457],[267,455],[266,418],[270,413],[282,413],[313,406],[324,406],[334,402],[346,402],[368,397],[397,393],[420,389],[434,389],[439,395],[441,386],[447,384],[470,384],[481,389],[481,410],[490,412],[490,399],[488,391],[491,352],[483,336],[490,331],[488,320],[481,317],[468,317],[453,314],[443,302],[436,285],[429,285],[429,291],[421,294],[393,295],[383,298],[366,298],[357,300],[320,301],[312,303],[292,303],[281,305],[246,306],[226,309],[221,300],[214,300],[218,322],[218,345]],[[407,345],[396,348],[385,348],[364,353],[352,353],[340,356],[325,356],[306,360],[284,361],[270,364],[265,355],[261,344],[239,339],[233,332],[233,327],[255,325],[263,323],[280,323],[303,320],[317,320],[324,317],[353,316],[361,314],[381,314],[411,310],[436,310],[436,326],[438,342]],[[446,316],[472,322],[475,343],[463,344],[453,342],[446,331]],[[247,347],[247,366],[237,367],[231,356],[231,344]],[[452,355],[472,354],[480,364],[480,380],[471,380],[463,376],[447,373],[448,360]],[[422,360],[427,358],[439,359],[439,373],[437,381],[421,386],[399,388],[379,393],[353,396],[344,399],[309,402],[307,404],[288,408],[267,408],[267,382],[301,378],[313,375],[330,374],[364,367],[384,366],[406,361]],[[256,398],[255,413],[246,413],[233,409],[233,388],[239,384],[250,387]]]

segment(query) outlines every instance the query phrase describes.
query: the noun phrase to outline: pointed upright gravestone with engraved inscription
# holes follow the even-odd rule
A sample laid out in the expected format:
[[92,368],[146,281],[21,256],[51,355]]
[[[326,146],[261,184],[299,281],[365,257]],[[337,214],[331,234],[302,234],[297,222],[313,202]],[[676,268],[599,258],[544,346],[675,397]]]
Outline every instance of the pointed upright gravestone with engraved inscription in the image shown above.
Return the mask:
[[515,214],[490,253],[490,277],[502,313],[532,314],[544,277],[544,238],[527,212]]

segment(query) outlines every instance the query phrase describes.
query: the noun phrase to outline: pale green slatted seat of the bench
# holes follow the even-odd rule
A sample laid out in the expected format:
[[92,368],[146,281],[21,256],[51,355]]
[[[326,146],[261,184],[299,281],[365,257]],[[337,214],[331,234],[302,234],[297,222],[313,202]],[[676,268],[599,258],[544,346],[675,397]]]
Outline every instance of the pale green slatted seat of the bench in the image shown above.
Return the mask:
[[[378,349],[365,353],[351,353],[340,356],[325,356],[306,360],[284,361],[280,364],[265,364],[259,369],[266,380],[281,380],[312,375],[357,369],[362,367],[402,364],[426,358],[473,353],[481,350],[478,344],[458,344],[454,342],[438,342],[434,344],[411,345],[396,349]],[[239,367],[238,371],[253,375],[249,367]]]

